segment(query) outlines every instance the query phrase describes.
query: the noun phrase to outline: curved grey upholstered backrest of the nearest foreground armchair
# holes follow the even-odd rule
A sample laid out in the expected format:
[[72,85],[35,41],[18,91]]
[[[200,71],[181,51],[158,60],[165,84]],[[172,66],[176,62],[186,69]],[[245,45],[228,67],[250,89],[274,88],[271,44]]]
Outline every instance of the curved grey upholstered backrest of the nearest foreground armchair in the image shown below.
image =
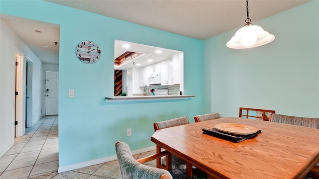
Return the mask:
[[117,142],[115,149],[122,179],[172,179],[168,171],[149,167],[136,161],[129,145],[125,142]]

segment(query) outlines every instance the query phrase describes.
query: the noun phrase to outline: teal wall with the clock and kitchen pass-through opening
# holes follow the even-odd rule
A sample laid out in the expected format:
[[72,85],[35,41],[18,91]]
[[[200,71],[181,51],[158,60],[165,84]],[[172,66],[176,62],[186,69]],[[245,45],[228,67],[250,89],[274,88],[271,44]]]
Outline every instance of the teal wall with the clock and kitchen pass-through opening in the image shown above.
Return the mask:
[[[154,146],[153,123],[203,113],[203,41],[41,0],[0,1],[0,12],[60,24],[59,168],[115,155],[115,142],[132,150]],[[114,90],[114,40],[184,52],[185,100],[110,102]],[[101,59],[80,62],[76,45],[91,40]],[[68,98],[68,89],[75,97]],[[127,137],[127,128],[132,136]]]

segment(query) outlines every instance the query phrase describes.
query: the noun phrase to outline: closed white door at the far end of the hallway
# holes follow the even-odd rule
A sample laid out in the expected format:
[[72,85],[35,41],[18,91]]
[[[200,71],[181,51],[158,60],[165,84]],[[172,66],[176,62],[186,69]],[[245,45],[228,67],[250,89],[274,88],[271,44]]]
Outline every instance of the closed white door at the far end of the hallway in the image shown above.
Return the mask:
[[45,72],[45,115],[58,115],[59,73]]

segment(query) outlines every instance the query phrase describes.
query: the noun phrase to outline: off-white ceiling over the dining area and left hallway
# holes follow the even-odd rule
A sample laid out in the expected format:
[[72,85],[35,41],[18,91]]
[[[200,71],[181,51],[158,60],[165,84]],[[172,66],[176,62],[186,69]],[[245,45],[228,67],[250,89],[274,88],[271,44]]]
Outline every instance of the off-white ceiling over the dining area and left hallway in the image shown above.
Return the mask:
[[[45,1],[200,40],[243,27],[247,18],[245,0]],[[249,17],[254,24],[257,20],[309,1],[311,0],[250,0]],[[0,17],[43,63],[58,64],[59,44],[55,46],[54,42],[59,42],[59,25],[4,14],[0,14]],[[42,33],[37,33],[35,30]],[[276,32],[270,33],[276,35]],[[43,45],[50,46],[50,48],[43,48]]]

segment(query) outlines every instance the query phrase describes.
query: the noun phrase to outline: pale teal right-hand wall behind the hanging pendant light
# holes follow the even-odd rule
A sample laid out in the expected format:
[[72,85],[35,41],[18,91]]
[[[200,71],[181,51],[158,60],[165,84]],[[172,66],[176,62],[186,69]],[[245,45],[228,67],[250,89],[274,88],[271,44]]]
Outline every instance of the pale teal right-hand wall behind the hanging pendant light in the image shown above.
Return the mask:
[[204,89],[210,91],[204,111],[238,116],[239,107],[248,107],[318,118],[319,1],[252,23],[276,39],[230,49],[235,29],[204,41]]

